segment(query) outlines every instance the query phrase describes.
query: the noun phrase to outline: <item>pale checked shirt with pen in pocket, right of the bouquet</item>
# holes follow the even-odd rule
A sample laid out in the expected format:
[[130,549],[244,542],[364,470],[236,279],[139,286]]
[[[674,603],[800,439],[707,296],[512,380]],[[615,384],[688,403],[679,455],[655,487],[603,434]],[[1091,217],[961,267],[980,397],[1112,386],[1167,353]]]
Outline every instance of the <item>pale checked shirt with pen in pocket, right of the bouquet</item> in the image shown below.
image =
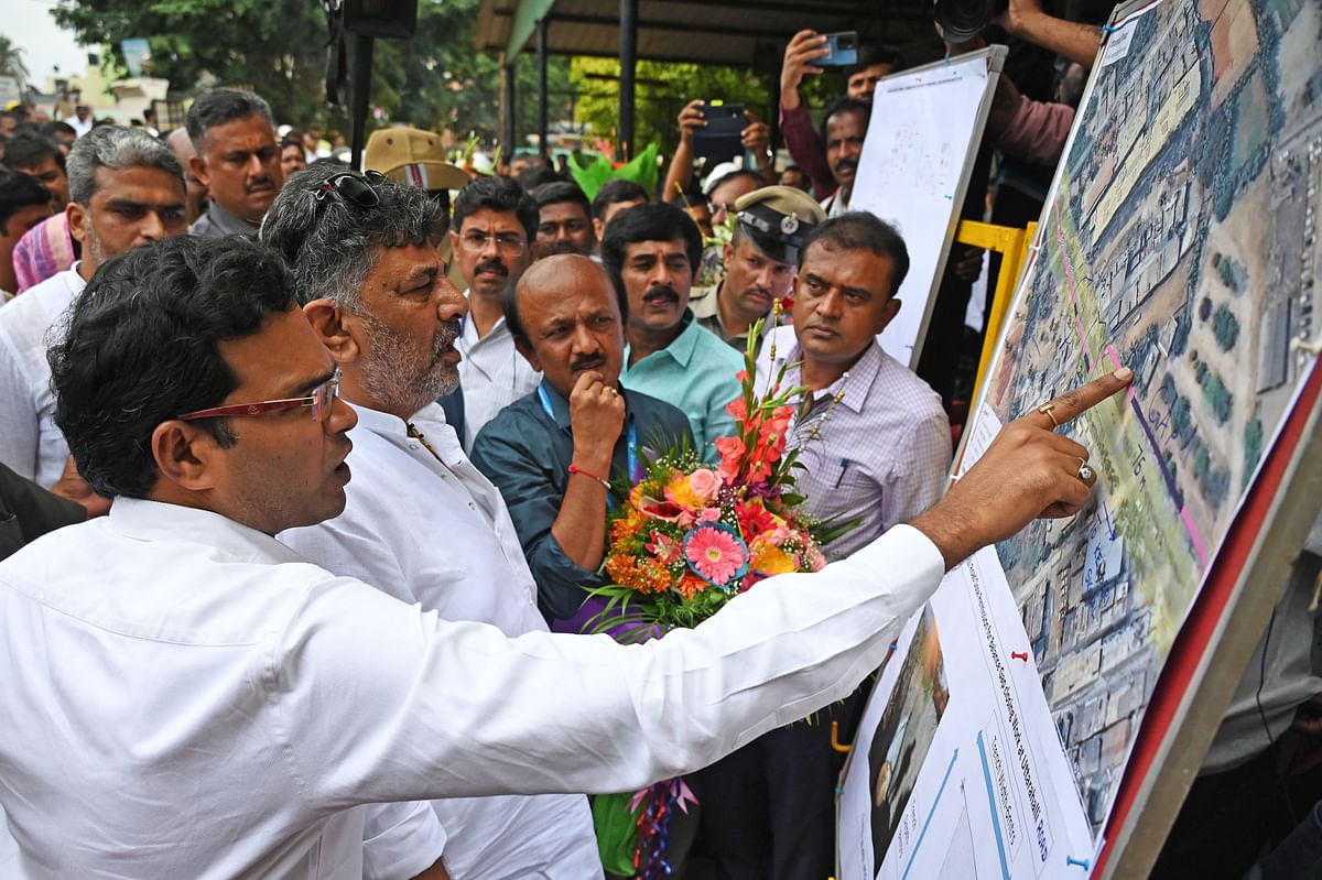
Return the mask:
[[[777,328],[768,338],[776,341],[776,362],[769,362],[764,344],[758,387],[767,387],[768,377],[787,362],[793,366],[785,371],[785,387],[800,385],[802,354],[793,328]],[[940,395],[875,340],[845,375],[813,395],[808,415],[792,423],[788,445],[800,449],[798,461],[806,468],[797,473],[808,513],[818,519],[861,519],[822,548],[832,560],[936,503],[952,457]]]

